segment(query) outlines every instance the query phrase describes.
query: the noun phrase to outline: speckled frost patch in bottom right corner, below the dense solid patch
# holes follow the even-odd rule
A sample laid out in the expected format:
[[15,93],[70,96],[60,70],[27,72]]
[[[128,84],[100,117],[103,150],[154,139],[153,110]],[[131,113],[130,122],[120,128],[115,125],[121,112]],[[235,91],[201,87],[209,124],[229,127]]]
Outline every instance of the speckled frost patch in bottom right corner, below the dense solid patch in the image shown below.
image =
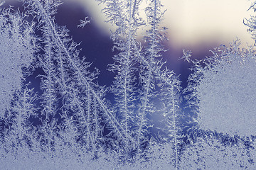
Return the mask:
[[182,169],[255,169],[255,149],[245,143],[220,142],[215,137],[200,137],[181,155]]

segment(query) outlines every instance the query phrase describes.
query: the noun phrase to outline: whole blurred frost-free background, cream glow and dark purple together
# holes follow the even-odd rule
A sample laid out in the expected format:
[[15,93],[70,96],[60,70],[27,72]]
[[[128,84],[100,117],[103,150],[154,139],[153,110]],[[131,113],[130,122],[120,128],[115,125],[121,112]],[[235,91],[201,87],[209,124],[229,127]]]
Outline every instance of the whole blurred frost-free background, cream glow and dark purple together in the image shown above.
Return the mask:
[[[7,0],[8,4],[17,3],[16,0]],[[100,84],[107,86],[112,83],[114,74],[106,72],[107,64],[112,64],[112,40],[110,29],[112,26],[105,23],[102,13],[103,4],[98,5],[95,0],[63,0],[55,15],[55,22],[60,26],[67,26],[75,42],[81,42],[81,54],[88,62],[93,62],[92,68],[101,71]],[[191,50],[192,58],[203,58],[212,55],[209,50],[219,45],[228,45],[229,42],[240,38],[242,46],[252,45],[254,42],[247,33],[247,26],[242,21],[250,18],[253,11],[247,11],[252,1],[248,0],[162,0],[166,13],[162,26],[168,29],[169,41],[164,42],[168,50],[163,54],[167,67],[180,75],[183,87],[190,65],[181,58],[182,49]],[[13,5],[12,4],[12,5]],[[146,0],[141,6],[142,17],[145,18],[144,8]],[[91,23],[85,28],[77,28],[80,19],[86,16],[91,18]],[[142,38],[143,30],[139,35]],[[107,77],[107,79],[106,79]]]

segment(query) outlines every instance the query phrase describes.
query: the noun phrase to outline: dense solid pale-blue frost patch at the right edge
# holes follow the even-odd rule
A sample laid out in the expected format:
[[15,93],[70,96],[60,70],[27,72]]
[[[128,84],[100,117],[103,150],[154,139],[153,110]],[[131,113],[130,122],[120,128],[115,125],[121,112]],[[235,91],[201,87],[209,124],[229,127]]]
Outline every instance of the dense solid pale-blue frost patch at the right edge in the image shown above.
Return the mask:
[[[239,42],[220,50],[199,67],[198,124],[229,135],[256,135],[256,58]],[[195,76],[195,75],[193,75]]]

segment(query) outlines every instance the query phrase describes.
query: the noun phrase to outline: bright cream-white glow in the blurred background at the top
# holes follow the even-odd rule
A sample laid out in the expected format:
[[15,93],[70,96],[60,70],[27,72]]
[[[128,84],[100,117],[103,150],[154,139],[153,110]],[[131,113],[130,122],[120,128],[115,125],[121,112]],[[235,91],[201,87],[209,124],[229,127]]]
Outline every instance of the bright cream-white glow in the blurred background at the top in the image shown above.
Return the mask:
[[[109,33],[109,23],[105,23],[105,16],[101,12],[104,7],[95,0],[78,1],[85,11],[92,16],[92,22],[105,33]],[[142,2],[142,9],[146,1]],[[247,0],[163,0],[164,15],[162,26],[169,28],[169,44],[175,48],[199,47],[200,45],[228,45],[236,38],[246,44],[252,45],[254,41],[247,26],[242,21],[253,15],[252,10],[247,11],[251,2]],[[144,16],[142,16],[144,17]],[[142,35],[142,33],[139,33]]]

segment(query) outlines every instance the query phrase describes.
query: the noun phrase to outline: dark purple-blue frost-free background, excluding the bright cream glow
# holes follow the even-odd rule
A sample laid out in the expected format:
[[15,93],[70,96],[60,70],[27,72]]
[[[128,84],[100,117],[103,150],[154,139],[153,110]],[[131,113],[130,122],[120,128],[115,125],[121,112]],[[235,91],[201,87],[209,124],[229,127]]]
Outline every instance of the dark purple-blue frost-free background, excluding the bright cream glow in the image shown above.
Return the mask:
[[[97,69],[100,69],[101,71],[98,80],[99,83],[101,85],[110,86],[114,77],[112,72],[106,70],[107,64],[113,63],[112,57],[114,55],[114,52],[111,50],[112,40],[110,40],[110,34],[107,34],[107,31],[103,31],[102,28],[99,28],[99,24],[92,17],[92,11],[88,10],[87,12],[85,10],[85,6],[82,6],[76,1],[78,0],[65,1],[64,4],[60,5],[58,13],[55,15],[55,21],[60,26],[67,26],[70,30],[70,35],[73,37],[75,42],[81,42],[80,48],[82,48],[82,51],[80,52],[80,55],[85,56],[87,62],[93,63],[92,69],[97,67]],[[17,2],[14,0],[6,1],[6,4],[14,5],[16,3]],[[166,8],[169,8],[169,6],[166,6]],[[186,6],[183,7],[183,10],[186,10]],[[77,26],[80,23],[80,19],[84,19],[85,16],[92,18],[92,22],[85,26],[85,28],[78,28]],[[168,17],[165,18],[166,20],[168,19]],[[211,52],[209,52],[209,50],[213,50],[214,47],[218,47],[221,42],[217,39],[205,39],[195,42],[194,45],[193,43],[184,43],[184,46],[180,45],[181,42],[177,41],[177,44],[179,44],[177,45],[175,42],[176,38],[172,38],[172,36],[175,37],[175,33],[172,35],[171,30],[173,29],[169,28],[168,36],[170,40],[168,42],[164,42],[168,51],[163,53],[163,57],[164,61],[166,61],[167,67],[169,67],[169,69],[173,69],[177,75],[180,75],[180,79],[183,81],[182,85],[185,87],[186,79],[190,73],[188,70],[190,65],[183,60],[178,60],[178,58],[183,55],[182,49],[185,48],[186,50],[192,50],[193,57],[203,58],[210,56]],[[222,37],[218,38],[221,39]],[[226,44],[226,42],[223,42],[223,44]]]

